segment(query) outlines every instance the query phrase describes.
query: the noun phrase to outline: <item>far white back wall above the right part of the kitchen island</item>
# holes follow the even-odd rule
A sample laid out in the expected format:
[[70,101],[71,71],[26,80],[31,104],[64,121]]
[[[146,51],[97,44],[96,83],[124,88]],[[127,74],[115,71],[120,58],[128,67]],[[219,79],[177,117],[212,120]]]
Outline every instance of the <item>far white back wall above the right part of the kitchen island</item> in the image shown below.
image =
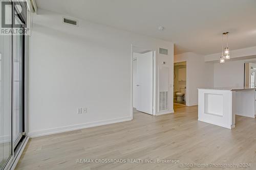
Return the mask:
[[214,63],[214,87],[243,87],[244,63],[256,59]]

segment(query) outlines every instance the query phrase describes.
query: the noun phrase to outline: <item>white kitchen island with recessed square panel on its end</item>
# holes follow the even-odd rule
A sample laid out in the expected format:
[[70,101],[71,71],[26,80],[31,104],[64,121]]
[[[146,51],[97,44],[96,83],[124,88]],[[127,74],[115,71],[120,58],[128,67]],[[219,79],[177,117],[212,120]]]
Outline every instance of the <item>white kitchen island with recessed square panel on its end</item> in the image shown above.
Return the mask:
[[255,88],[198,89],[198,120],[232,129],[236,115],[255,118]]

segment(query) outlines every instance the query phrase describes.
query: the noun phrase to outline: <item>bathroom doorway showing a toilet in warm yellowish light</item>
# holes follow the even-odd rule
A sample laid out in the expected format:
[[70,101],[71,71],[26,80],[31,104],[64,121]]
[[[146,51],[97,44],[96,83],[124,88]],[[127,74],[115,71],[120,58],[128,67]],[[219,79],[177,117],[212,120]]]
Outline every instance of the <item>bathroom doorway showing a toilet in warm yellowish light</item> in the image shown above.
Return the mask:
[[186,61],[174,63],[174,103],[186,105]]

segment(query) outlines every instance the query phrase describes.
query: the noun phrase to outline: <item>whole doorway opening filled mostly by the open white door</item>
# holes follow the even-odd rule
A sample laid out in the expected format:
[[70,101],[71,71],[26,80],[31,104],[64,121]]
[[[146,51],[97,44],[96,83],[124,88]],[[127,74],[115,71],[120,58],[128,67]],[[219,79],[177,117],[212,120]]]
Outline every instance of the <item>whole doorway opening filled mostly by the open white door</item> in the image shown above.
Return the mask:
[[132,116],[155,115],[155,51],[132,46]]

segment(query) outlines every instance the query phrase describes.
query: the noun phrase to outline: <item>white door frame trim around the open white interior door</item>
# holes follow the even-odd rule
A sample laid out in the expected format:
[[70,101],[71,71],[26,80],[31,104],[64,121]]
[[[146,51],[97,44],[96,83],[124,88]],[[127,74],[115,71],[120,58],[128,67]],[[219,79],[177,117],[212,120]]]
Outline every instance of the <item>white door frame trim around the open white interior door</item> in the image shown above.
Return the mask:
[[156,111],[157,111],[157,50],[156,49],[151,49],[151,48],[148,48],[148,47],[140,47],[140,46],[137,46],[137,45],[133,45],[131,44],[131,118],[133,119],[133,53],[134,53],[134,48],[141,48],[141,49],[146,49],[148,51],[152,51],[153,52],[153,108],[152,108],[152,113],[153,115],[156,115]]

